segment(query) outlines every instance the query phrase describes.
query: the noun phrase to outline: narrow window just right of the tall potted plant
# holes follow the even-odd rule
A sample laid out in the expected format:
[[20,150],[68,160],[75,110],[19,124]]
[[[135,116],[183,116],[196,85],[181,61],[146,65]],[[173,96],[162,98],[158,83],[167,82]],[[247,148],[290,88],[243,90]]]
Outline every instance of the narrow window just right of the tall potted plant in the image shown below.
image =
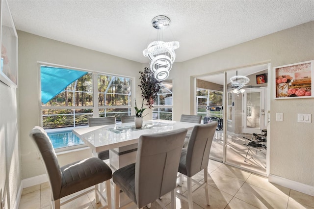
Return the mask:
[[160,83],[160,90],[153,108],[153,120],[172,120],[172,79]]

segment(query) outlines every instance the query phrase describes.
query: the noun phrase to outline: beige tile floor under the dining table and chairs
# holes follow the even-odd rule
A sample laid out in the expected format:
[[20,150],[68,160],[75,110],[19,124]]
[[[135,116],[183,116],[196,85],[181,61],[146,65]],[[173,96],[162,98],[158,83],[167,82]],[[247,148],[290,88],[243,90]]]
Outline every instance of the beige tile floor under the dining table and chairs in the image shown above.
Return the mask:
[[[206,205],[204,189],[193,194],[194,209],[314,209],[314,197],[286,187],[269,183],[267,178],[247,171],[209,160],[209,201]],[[204,181],[203,172],[195,175],[198,181]],[[177,191],[186,192],[186,180]],[[113,194],[113,186],[111,190]],[[123,199],[123,197],[121,197]],[[170,208],[170,194],[161,199]],[[176,198],[177,209],[187,209],[184,200]],[[95,193],[90,192],[75,201],[65,204],[62,209],[98,209]],[[42,183],[25,188],[19,209],[49,209],[50,187]],[[131,209],[135,209],[134,205]],[[152,203],[152,209],[160,209]]]

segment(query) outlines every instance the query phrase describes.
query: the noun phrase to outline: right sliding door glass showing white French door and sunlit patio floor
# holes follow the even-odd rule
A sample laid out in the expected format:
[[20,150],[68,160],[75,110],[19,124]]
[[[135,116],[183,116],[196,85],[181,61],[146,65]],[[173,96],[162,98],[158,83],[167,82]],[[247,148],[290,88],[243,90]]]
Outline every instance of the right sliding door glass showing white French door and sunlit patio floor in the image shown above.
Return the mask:
[[[237,73],[241,75],[240,70]],[[232,77],[234,74],[235,72],[228,71],[227,77]],[[252,77],[254,78],[255,75]],[[235,90],[229,85],[227,92],[226,163],[265,174],[266,169],[263,165],[266,164],[266,150],[261,153],[259,159],[247,161],[244,159],[248,152],[245,144],[249,142],[245,138],[252,139],[252,133],[261,133],[261,129],[265,128],[263,114],[266,111],[264,107],[266,88],[251,88],[249,84],[240,90]]]

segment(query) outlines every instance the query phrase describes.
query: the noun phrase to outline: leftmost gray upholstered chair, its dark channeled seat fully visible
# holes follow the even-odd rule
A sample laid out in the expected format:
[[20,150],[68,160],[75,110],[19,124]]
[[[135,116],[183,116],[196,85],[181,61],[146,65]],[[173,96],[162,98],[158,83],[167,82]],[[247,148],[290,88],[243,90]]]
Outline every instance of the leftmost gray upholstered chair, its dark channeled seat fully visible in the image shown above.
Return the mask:
[[[34,127],[29,135],[36,144],[37,151],[48,175],[52,189],[53,209],[60,209],[61,205],[94,190],[93,188],[86,190],[86,188],[94,185],[96,203],[99,202],[99,197],[101,197],[107,202],[106,208],[111,209],[110,179],[112,171],[103,160],[91,157],[60,167],[46,131],[41,127]],[[98,183],[103,182],[106,182],[107,200],[98,190]],[[85,189],[84,192],[60,202],[61,198],[83,189]]]

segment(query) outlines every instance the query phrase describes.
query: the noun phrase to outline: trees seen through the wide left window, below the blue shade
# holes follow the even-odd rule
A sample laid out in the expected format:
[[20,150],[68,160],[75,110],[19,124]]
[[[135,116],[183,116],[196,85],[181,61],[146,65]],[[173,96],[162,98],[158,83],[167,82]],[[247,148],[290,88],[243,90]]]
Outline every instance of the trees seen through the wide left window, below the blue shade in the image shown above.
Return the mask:
[[[94,83],[94,74],[88,72],[42,103],[45,129],[88,125],[89,117],[115,116],[119,120],[122,115],[131,115],[131,78],[97,74]],[[97,97],[93,96],[94,88],[98,89]],[[94,102],[95,98],[98,101]]]

